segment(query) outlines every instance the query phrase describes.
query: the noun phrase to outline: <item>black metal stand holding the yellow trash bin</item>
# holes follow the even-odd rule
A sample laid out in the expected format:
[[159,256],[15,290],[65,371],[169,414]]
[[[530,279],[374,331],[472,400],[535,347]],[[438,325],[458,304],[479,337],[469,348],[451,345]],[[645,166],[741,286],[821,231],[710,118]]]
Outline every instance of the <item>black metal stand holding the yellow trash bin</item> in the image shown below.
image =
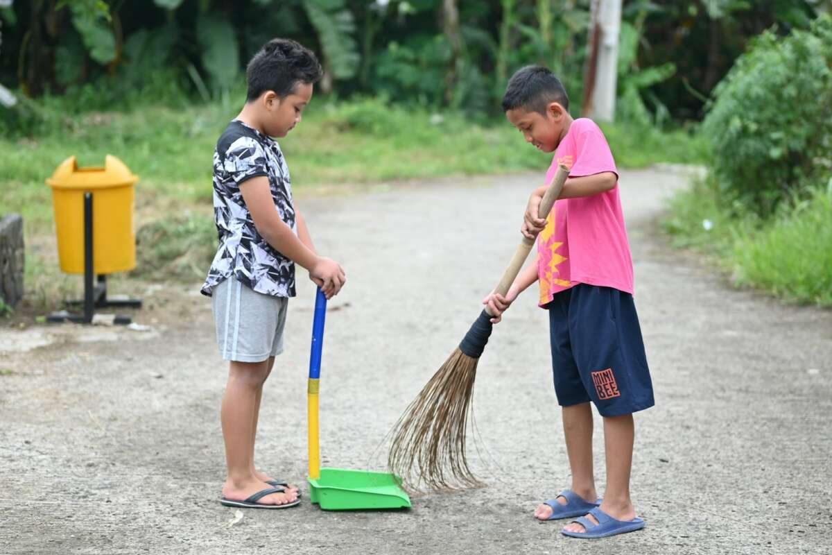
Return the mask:
[[[75,322],[77,324],[92,324],[95,309],[106,307],[141,308],[141,299],[109,300],[106,298],[106,275],[98,275],[96,279],[94,253],[92,249],[92,193],[84,193],[84,298],[83,300],[67,300],[67,306],[83,306],[84,314],[77,315],[62,310],[47,316],[50,322]],[[126,325],[132,321],[128,315],[116,315],[113,324]]]

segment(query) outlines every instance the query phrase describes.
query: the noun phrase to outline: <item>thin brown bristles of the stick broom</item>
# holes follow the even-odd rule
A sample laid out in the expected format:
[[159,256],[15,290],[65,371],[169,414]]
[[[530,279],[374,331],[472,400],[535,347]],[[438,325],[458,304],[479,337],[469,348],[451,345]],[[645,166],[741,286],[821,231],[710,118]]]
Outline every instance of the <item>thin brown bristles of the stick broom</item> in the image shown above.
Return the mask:
[[478,360],[455,349],[394,425],[388,466],[405,484],[431,489],[482,485],[465,456]]

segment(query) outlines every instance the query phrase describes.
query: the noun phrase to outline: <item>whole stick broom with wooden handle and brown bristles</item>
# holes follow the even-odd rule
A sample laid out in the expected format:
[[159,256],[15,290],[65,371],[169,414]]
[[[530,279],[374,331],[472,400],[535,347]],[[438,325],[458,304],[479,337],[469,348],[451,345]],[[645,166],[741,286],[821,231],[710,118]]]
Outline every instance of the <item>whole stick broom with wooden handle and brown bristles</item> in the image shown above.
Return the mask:
[[[540,203],[539,217],[545,219],[552,211],[567,176],[568,168],[558,166]],[[523,236],[495,293],[508,293],[533,245],[533,239]],[[468,419],[473,421],[473,382],[479,356],[491,335],[492,318],[487,307],[394,425],[388,467],[404,483],[416,488],[423,483],[431,489],[482,485],[468,468],[465,432]]]

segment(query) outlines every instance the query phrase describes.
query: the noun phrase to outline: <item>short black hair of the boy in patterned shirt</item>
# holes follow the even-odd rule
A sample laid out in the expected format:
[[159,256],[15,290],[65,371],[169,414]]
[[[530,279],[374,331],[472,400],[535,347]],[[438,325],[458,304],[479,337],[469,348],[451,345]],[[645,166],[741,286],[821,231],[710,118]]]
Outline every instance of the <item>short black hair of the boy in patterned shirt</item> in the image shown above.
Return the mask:
[[246,101],[256,100],[266,91],[274,91],[280,98],[288,97],[298,83],[313,85],[323,73],[318,58],[309,48],[290,38],[273,38],[245,67],[249,86]]

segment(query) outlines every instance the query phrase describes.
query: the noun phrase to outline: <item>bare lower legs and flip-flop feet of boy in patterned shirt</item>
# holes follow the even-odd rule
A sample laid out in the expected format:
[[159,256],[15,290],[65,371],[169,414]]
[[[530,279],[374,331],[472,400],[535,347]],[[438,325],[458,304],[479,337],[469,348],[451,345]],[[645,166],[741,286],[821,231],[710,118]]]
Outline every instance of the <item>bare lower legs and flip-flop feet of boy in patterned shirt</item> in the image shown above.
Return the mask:
[[[270,488],[252,472],[255,439],[256,407],[263,382],[269,372],[268,361],[230,363],[228,384],[222,398],[222,435],[225,440],[225,461],[228,474],[222,488],[223,497],[241,501]],[[272,493],[258,503],[291,503],[297,493]]]

